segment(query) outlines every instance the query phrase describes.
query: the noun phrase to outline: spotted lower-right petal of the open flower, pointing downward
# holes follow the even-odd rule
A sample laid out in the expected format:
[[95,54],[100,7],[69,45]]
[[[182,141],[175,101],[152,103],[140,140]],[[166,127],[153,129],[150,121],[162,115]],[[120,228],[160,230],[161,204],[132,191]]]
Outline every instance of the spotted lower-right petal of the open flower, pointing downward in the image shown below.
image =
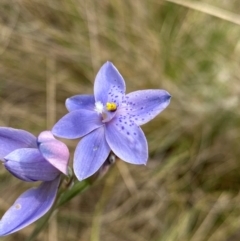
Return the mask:
[[106,124],[106,140],[111,150],[123,161],[146,164],[148,147],[141,128],[127,118],[114,118]]

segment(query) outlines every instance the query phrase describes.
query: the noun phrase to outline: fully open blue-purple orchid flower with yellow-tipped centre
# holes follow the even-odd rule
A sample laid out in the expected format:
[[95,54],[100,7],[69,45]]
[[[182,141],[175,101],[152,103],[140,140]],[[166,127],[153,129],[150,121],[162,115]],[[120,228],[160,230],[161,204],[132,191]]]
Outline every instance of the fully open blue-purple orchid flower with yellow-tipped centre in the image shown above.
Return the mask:
[[52,133],[58,137],[83,137],[74,153],[74,172],[79,180],[93,175],[110,151],[125,162],[146,164],[148,146],[140,125],[158,115],[170,102],[165,90],[139,90],[125,95],[125,82],[116,67],[105,63],[94,84],[94,95],[66,100],[70,113]]

